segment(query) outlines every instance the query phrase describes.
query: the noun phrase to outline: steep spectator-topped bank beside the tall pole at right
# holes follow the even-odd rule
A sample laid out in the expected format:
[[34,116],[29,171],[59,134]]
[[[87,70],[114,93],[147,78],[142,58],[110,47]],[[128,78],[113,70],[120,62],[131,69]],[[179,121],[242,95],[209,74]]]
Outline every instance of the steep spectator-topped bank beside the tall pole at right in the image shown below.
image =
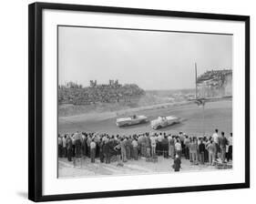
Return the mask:
[[232,96],[232,70],[210,70],[197,77],[198,97]]

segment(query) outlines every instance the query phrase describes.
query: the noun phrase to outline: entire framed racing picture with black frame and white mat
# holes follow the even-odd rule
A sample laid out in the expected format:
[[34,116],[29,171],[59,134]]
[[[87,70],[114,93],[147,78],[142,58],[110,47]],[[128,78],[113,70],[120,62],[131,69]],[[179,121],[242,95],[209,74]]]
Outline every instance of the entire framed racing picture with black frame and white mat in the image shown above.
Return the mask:
[[250,16],[29,5],[28,197],[250,187]]

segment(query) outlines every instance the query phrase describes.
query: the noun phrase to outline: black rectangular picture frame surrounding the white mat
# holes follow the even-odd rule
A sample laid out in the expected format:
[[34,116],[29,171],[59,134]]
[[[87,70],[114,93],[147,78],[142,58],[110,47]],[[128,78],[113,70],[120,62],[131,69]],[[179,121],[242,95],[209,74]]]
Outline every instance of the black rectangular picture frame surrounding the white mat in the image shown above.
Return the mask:
[[[57,9],[68,11],[90,11],[128,15],[175,16],[187,18],[230,20],[245,23],[245,182],[195,187],[136,189],[105,191],[93,193],[77,193],[64,195],[42,195],[42,11]],[[34,201],[93,199],[106,197],[136,196],[147,194],[177,193],[217,189],[250,188],[250,16],[219,15],[167,10],[149,10],[125,7],[108,7],[95,5],[67,5],[34,3],[28,9],[28,199]]]

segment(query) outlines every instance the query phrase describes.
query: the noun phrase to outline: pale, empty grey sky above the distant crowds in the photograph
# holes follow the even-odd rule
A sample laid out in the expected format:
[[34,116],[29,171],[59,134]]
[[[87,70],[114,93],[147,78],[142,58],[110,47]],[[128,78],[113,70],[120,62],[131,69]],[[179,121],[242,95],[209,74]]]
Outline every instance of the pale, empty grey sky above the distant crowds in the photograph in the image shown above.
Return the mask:
[[192,88],[198,75],[232,68],[232,36],[58,27],[58,81],[137,84],[145,90]]

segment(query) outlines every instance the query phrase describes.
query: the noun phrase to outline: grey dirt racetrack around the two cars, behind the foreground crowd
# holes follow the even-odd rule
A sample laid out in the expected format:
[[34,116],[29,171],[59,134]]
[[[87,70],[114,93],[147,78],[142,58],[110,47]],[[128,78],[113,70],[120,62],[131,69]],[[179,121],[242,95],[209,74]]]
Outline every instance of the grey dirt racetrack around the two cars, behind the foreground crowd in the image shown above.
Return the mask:
[[[108,134],[130,135],[144,132],[164,131],[178,134],[179,131],[187,133],[189,136],[201,136],[205,131],[206,135],[211,135],[215,128],[224,131],[226,134],[232,132],[232,101],[222,100],[207,102],[204,109],[196,104],[188,104],[178,107],[161,107],[147,110],[138,110],[132,114],[144,115],[149,120],[159,116],[175,115],[182,118],[182,122],[167,128],[153,130],[150,123],[118,128],[116,126],[117,113],[100,113],[90,115],[79,115],[73,117],[58,118],[58,132],[74,133],[76,131],[104,132]],[[128,115],[118,116],[127,117]]]

